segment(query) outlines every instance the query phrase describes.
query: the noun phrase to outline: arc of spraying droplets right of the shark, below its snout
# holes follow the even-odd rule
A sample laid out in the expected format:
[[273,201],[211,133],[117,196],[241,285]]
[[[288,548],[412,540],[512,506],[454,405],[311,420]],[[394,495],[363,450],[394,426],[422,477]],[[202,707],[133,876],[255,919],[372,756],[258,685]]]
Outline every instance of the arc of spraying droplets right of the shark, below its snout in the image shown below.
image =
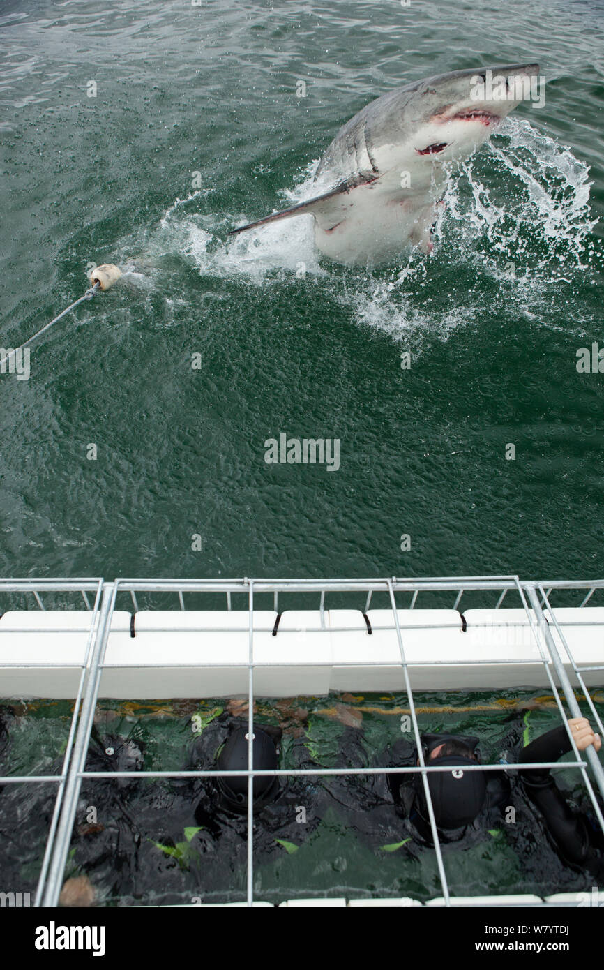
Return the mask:
[[498,279],[518,280],[522,268],[532,283],[571,282],[595,256],[588,175],[568,147],[508,118],[487,150],[449,178],[437,238],[462,242],[462,253],[481,257]]

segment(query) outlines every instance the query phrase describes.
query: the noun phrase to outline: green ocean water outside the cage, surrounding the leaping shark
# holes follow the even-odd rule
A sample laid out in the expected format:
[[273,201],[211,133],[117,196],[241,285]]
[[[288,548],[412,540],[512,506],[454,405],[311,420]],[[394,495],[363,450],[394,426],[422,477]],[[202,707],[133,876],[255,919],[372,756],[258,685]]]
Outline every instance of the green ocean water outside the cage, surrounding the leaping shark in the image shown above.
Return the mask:
[[[126,272],[0,375],[2,573],[600,576],[603,35],[579,0],[5,2],[2,345]],[[545,107],[452,174],[430,258],[227,240],[373,98],[535,59]],[[340,468],[267,465],[281,433]]]

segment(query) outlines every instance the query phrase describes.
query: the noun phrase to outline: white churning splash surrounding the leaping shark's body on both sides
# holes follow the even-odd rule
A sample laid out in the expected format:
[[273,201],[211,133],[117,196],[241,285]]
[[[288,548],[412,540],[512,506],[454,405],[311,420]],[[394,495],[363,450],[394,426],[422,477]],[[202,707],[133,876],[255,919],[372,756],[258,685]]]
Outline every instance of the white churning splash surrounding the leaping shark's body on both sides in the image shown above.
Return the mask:
[[[278,208],[316,194],[316,166],[316,160],[310,162],[294,187],[283,190]],[[429,258],[411,250],[401,254],[396,267],[343,270],[320,260],[311,216],[228,238],[250,213],[183,216],[177,211],[201,192],[167,210],[155,245],[184,255],[201,275],[274,286],[292,276],[315,277],[326,288],[326,299],[350,307],[363,326],[393,339],[410,334],[448,339],[497,303],[529,320],[542,319],[554,291],[562,299],[564,287],[575,295],[590,281],[599,255],[588,172],[570,148],[558,146],[527,120],[508,118],[483,151],[449,173]]]

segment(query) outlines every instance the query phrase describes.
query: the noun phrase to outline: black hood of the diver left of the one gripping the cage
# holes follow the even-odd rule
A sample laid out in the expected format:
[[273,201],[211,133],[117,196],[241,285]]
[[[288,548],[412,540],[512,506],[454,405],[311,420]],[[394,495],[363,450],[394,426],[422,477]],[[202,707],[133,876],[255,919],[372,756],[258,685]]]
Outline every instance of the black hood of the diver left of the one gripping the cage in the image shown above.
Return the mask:
[[[270,771],[278,767],[278,749],[266,731],[254,727],[254,768]],[[247,770],[248,741],[247,731],[238,727],[225,741],[218,754],[217,766],[220,771]],[[247,776],[231,775],[227,778],[217,778],[218,790],[222,795],[225,807],[233,812],[247,811]],[[259,811],[270,801],[274,801],[280,792],[277,776],[261,775],[254,778],[254,811]]]

